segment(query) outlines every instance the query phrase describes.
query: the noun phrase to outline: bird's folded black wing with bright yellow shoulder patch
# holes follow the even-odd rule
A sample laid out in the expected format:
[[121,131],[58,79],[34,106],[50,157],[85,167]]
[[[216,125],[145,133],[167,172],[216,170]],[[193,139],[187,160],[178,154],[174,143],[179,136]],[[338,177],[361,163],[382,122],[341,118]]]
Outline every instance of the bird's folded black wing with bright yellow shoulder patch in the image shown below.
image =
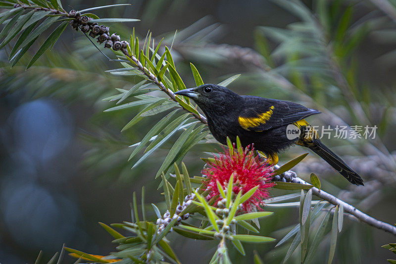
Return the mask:
[[267,99],[256,96],[243,96],[245,107],[239,113],[238,122],[246,130],[264,131],[292,124],[320,111],[299,104]]

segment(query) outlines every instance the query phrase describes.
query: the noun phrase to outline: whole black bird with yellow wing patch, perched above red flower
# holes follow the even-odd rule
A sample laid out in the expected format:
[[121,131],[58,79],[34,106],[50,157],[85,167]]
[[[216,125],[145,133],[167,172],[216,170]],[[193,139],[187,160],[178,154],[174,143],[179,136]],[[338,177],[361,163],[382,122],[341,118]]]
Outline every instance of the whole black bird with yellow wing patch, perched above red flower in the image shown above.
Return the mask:
[[[214,138],[226,144],[227,137],[235,142],[239,136],[244,147],[254,148],[276,164],[278,152],[297,144],[311,149],[327,161],[349,182],[363,185],[362,178],[340,157],[327,148],[316,131],[304,118],[320,111],[299,104],[257,96],[239,96],[229,89],[204,84],[175,93],[194,100],[207,118]],[[298,132],[293,134],[294,132]]]

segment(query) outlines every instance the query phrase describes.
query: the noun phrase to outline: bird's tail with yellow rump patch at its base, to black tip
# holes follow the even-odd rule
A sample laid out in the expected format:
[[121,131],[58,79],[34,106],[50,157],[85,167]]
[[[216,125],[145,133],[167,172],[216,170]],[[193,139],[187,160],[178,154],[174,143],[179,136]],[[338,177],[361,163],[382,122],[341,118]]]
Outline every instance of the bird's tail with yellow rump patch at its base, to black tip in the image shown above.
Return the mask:
[[323,158],[350,183],[355,185],[364,185],[363,179],[353,169],[351,169],[340,157],[332,152],[319,139],[317,132],[304,119],[295,123],[301,129],[301,134],[296,142],[297,145],[307,147]]

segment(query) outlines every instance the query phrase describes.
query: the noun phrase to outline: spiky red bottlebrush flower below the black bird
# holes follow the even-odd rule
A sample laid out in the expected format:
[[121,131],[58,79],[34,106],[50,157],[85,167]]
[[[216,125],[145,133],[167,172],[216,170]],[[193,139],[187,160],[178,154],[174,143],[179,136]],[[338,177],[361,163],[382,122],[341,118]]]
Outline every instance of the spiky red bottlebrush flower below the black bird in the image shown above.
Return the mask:
[[210,200],[218,195],[220,198],[215,202],[214,205],[216,206],[217,202],[221,200],[217,181],[220,182],[223,190],[226,190],[231,174],[234,173],[233,192],[235,194],[242,190],[242,195],[244,195],[250,189],[259,186],[255,193],[242,204],[242,209],[251,211],[252,206],[260,209],[262,200],[269,198],[269,188],[275,185],[275,183],[270,182],[272,171],[272,166],[268,166],[265,160],[257,161],[254,158],[249,147],[242,153],[234,151],[230,154],[229,151],[225,151],[219,157],[216,157],[213,162],[209,162],[208,167],[202,170],[202,174],[207,176],[205,189],[212,189],[206,199]]

